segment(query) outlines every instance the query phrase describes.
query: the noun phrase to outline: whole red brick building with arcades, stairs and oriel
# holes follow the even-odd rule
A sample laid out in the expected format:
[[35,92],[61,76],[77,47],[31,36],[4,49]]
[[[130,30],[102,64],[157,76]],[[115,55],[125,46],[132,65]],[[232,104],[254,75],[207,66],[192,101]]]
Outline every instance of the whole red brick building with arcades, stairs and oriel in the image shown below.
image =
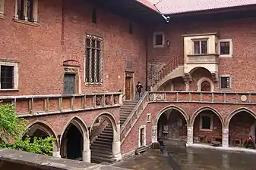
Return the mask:
[[113,162],[157,138],[241,146],[255,138],[255,3],[0,0],[0,99],[69,159]]

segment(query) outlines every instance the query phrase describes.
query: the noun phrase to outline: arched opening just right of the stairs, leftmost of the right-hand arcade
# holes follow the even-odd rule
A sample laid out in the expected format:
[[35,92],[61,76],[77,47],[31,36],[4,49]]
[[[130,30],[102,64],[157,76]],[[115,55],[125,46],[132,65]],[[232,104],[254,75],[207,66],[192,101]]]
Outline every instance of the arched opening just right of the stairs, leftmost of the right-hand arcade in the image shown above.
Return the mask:
[[187,121],[174,108],[164,111],[157,121],[158,141],[187,141]]

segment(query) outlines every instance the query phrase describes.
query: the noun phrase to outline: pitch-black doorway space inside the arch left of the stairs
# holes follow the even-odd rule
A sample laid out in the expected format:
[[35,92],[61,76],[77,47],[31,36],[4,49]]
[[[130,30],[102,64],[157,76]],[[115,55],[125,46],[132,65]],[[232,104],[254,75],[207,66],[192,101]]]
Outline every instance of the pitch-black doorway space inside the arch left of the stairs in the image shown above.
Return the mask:
[[82,159],[83,152],[83,138],[81,132],[71,125],[67,134],[67,158],[68,159]]

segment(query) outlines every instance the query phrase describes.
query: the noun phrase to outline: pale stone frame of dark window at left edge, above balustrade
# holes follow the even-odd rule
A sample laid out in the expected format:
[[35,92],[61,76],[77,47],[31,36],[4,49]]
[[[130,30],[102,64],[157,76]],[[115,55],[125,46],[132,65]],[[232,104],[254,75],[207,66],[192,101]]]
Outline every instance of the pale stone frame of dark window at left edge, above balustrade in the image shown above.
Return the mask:
[[0,91],[16,91],[16,90],[18,90],[18,66],[17,66],[17,62],[0,60],[0,78],[1,78],[1,66],[14,66],[14,77],[13,77],[13,79],[14,79],[14,88],[2,89],[1,88],[1,79],[0,79]]

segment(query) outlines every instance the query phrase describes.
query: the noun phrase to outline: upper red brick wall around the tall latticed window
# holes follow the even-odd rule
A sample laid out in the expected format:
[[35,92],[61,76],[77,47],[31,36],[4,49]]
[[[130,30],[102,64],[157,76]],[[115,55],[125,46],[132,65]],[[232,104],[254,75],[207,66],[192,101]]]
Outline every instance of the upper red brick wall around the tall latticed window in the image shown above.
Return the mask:
[[[83,0],[39,1],[40,26],[16,23],[14,0],[5,2],[6,19],[0,20],[0,58],[18,60],[19,91],[0,95],[61,94],[63,62],[77,60],[81,92],[123,91],[125,70],[134,72],[134,81],[145,85],[146,48],[144,29],[129,20],[96,8],[97,23],[91,22],[92,5]],[[84,38],[87,33],[103,37],[103,85],[84,85]],[[63,45],[62,45],[63,44]],[[126,68],[126,60],[132,67]],[[108,78],[107,78],[108,77]],[[33,82],[33,83],[32,83]]]

